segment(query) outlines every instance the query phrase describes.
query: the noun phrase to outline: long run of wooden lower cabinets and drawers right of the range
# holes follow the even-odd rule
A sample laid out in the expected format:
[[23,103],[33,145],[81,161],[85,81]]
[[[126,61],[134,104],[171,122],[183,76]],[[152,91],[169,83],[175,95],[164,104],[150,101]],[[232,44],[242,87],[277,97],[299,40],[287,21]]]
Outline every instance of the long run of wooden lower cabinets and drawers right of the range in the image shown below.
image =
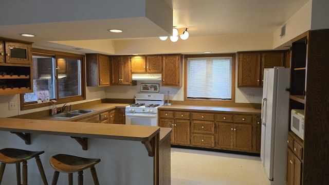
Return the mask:
[[166,109],[159,110],[159,126],[172,128],[171,144],[260,153],[259,114]]

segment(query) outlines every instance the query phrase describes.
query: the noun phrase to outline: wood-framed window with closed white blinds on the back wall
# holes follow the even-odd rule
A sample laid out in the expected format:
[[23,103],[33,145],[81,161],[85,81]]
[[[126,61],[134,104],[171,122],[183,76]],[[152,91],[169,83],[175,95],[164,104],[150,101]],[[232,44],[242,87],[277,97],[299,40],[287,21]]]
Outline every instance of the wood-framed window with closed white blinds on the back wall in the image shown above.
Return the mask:
[[235,54],[185,55],[186,100],[234,101]]

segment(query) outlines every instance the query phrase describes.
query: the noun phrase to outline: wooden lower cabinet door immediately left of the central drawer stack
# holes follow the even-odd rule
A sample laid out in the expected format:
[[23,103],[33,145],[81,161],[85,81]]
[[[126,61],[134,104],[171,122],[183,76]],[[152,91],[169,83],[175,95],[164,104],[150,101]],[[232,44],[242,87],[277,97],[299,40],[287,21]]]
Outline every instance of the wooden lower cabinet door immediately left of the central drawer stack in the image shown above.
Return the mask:
[[190,144],[190,120],[175,120],[175,143]]

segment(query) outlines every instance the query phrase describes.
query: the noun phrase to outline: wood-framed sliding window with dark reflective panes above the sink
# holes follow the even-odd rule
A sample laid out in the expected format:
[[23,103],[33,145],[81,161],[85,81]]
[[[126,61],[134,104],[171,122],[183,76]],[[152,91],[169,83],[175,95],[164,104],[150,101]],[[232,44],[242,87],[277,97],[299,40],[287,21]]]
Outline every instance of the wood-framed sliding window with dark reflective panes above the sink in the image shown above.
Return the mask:
[[21,109],[85,99],[84,55],[33,49],[33,93],[21,95]]

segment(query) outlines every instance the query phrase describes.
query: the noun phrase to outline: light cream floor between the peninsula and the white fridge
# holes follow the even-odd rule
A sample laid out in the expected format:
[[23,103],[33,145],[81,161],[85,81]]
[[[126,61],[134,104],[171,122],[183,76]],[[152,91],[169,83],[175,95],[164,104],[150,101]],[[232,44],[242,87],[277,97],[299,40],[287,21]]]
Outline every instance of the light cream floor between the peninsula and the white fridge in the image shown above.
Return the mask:
[[258,156],[171,148],[171,185],[268,185]]

